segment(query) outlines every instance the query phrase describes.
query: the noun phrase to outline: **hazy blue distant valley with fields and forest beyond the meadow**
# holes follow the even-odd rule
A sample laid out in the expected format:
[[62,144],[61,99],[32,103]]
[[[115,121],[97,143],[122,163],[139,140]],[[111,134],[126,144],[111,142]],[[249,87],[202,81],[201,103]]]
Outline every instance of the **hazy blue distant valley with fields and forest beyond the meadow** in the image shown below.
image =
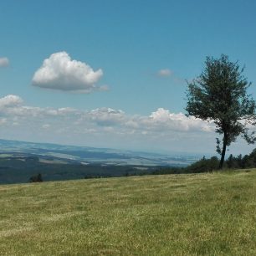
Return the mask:
[[140,175],[160,166],[188,166],[198,158],[0,140],[0,184],[28,182],[38,173],[44,181]]

